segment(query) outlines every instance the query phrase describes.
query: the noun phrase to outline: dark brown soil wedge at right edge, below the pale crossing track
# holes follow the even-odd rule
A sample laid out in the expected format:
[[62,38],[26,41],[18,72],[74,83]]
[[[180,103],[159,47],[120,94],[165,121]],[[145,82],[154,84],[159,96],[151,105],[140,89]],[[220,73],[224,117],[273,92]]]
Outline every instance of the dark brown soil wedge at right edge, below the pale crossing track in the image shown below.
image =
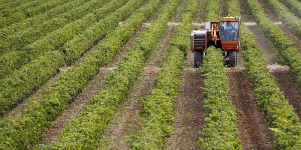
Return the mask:
[[295,112],[301,119],[301,89],[297,88],[295,80],[288,69],[274,70],[272,72],[281,90],[284,92],[288,102],[293,106]]

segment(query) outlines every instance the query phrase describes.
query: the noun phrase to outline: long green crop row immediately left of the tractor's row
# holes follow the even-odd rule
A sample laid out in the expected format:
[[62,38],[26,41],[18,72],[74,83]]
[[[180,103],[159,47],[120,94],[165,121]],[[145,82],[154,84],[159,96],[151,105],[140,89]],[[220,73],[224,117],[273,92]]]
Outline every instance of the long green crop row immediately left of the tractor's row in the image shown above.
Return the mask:
[[156,88],[143,102],[140,111],[142,129],[127,139],[133,149],[164,149],[165,137],[173,132],[174,102],[180,85],[184,55],[189,49],[187,34],[192,29],[198,5],[198,0],[189,0],[182,12],[181,23],[168,49],[168,57],[158,73]]

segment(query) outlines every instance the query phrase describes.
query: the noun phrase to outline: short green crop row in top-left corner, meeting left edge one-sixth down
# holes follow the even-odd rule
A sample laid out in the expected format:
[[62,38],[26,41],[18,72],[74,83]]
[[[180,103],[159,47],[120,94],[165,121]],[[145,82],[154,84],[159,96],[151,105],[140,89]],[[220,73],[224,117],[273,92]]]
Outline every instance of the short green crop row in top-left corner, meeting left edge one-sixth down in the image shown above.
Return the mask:
[[53,7],[56,7],[58,5],[64,4],[69,1],[71,0],[50,0],[45,3],[39,3],[40,2],[39,1],[35,3],[35,6],[26,7],[22,9],[22,11],[20,9],[18,9],[17,12],[12,11],[10,12],[12,14],[0,19],[0,26],[1,26],[0,28],[4,28],[6,26],[9,26],[13,23],[19,22],[29,17],[33,17],[35,15],[43,13]]

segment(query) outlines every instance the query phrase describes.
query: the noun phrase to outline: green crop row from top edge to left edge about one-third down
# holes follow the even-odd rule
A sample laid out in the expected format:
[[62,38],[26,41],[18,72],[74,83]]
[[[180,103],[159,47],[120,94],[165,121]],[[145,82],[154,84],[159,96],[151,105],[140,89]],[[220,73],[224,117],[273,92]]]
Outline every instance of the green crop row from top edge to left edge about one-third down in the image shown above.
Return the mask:
[[94,9],[101,7],[97,10],[101,10],[103,14],[107,14],[108,11],[103,11],[103,8],[106,8],[107,10],[111,10],[112,8],[117,9],[118,7],[122,6],[122,4],[124,4],[126,0],[123,0],[124,2],[119,1],[119,3],[116,3],[116,0],[107,3],[108,1],[109,0],[92,0],[59,15],[58,17],[54,17],[48,21],[45,21],[42,24],[36,24],[26,30],[12,33],[1,41],[1,52],[6,53],[15,50],[24,50],[24,47],[26,45],[43,36],[46,36],[47,33],[53,30],[63,27],[64,25],[85,16],[89,12],[95,11]]

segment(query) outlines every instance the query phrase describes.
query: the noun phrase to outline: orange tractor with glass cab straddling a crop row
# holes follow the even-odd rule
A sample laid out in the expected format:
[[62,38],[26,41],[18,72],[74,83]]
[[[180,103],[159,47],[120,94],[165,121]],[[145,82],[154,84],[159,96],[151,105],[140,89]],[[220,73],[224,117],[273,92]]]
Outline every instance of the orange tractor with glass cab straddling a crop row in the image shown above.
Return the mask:
[[205,30],[191,33],[191,51],[194,53],[194,66],[203,63],[203,56],[210,46],[222,49],[224,64],[235,67],[240,48],[240,18],[238,16],[220,17],[218,21],[205,22]]

